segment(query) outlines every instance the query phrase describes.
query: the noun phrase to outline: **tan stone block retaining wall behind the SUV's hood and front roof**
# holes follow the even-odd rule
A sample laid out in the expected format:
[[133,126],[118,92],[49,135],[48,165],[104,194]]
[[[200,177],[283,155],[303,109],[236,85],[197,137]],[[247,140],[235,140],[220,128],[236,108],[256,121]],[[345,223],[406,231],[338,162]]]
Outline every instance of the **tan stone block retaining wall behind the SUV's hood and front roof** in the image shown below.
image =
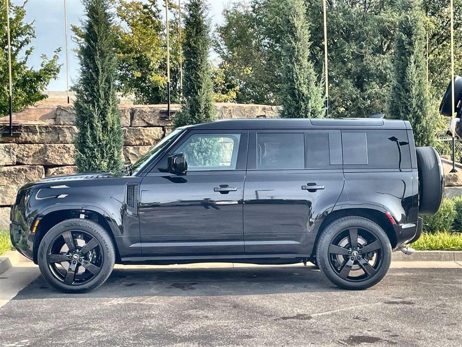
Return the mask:
[[[179,105],[172,105],[175,111]],[[217,118],[277,117],[279,106],[216,103]],[[133,163],[172,130],[172,121],[162,119],[166,105],[120,107],[124,133],[123,155]],[[0,118],[0,125],[7,122]],[[17,189],[44,176],[75,172],[74,145],[77,128],[72,106],[30,107],[13,116],[20,136],[0,140],[0,229],[9,225],[9,206]]]

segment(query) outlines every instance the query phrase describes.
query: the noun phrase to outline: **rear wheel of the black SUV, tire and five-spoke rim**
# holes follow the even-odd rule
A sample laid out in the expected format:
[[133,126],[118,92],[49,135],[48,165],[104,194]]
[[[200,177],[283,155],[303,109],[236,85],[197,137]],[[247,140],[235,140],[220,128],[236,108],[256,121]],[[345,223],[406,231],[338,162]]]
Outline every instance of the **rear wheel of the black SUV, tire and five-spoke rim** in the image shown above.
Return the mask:
[[[351,250],[354,242],[351,240],[355,229],[355,254],[358,254],[353,257],[355,254]],[[342,245],[342,242],[347,244]],[[361,249],[366,250],[366,247],[367,250],[377,248],[363,253]],[[320,269],[339,287],[366,289],[377,284],[387,274],[392,260],[392,247],[387,234],[377,223],[364,217],[346,216],[333,221],[322,231],[316,248],[316,259]],[[355,271],[355,275],[352,271]]]

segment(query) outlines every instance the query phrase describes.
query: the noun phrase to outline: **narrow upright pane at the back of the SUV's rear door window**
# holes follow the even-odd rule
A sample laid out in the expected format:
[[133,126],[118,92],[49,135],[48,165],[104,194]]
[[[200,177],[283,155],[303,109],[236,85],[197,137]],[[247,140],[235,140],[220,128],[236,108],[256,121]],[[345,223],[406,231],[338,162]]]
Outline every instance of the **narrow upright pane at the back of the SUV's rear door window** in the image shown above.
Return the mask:
[[307,167],[322,168],[329,167],[330,146],[329,133],[327,132],[310,132],[306,137],[307,142]]

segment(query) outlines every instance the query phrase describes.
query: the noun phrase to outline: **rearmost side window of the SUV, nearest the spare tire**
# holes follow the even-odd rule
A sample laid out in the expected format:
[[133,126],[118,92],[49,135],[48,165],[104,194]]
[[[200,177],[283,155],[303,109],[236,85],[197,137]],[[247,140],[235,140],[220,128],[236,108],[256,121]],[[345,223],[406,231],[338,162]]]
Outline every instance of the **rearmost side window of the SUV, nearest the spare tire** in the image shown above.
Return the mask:
[[345,165],[411,168],[406,130],[342,130]]

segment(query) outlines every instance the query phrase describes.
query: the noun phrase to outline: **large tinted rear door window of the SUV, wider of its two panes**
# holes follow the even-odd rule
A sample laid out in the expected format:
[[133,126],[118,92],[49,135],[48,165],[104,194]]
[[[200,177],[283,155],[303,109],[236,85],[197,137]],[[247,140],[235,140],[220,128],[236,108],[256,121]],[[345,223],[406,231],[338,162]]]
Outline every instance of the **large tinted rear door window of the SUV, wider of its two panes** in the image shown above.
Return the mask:
[[305,134],[257,133],[257,168],[305,168]]

